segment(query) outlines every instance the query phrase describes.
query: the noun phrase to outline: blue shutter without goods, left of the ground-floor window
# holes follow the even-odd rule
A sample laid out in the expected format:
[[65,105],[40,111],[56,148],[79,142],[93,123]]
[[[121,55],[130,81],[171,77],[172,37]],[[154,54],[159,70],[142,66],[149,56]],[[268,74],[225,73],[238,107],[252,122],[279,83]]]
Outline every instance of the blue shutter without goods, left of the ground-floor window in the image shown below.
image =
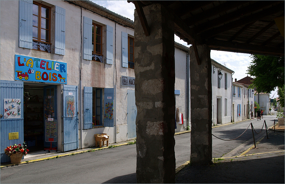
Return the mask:
[[84,87],[84,129],[92,128],[92,87]]

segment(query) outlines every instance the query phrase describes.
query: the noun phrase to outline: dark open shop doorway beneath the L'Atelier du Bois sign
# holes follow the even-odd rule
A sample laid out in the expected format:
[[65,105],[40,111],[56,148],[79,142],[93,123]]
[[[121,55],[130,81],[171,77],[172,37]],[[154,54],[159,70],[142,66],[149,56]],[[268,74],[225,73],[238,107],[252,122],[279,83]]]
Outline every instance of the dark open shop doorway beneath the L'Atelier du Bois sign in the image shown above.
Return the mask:
[[[47,118],[56,118],[56,86],[24,83],[24,141],[29,153],[50,147],[45,140]],[[57,143],[52,142],[56,147]]]

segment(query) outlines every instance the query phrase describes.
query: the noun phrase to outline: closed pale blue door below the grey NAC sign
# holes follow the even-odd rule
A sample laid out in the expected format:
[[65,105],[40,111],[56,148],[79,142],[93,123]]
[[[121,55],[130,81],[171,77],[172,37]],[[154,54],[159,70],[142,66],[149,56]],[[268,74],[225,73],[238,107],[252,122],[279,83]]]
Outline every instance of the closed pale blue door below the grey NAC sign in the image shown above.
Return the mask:
[[128,100],[128,114],[127,114],[127,124],[128,124],[128,139],[136,138],[136,117],[137,117],[137,107],[135,90],[128,90],[127,95]]

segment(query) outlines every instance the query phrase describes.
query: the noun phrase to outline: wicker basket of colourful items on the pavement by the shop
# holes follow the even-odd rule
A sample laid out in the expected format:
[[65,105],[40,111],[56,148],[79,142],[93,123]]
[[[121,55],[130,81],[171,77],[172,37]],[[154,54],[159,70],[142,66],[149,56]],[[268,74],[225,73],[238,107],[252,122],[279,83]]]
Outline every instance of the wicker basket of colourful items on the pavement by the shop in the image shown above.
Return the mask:
[[7,146],[4,151],[11,158],[11,163],[20,163],[23,155],[26,156],[28,154],[29,149],[27,147],[26,143],[23,143],[23,145],[14,144],[13,146]]

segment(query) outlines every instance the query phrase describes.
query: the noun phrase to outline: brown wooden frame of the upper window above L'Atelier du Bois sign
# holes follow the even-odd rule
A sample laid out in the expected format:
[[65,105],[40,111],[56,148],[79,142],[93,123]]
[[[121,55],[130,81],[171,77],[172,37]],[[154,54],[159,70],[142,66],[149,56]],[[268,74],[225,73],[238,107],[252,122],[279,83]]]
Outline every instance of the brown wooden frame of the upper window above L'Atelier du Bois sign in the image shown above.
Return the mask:
[[[33,37],[33,41],[34,42],[40,42],[40,43],[43,43],[43,44],[45,44],[45,45],[51,45],[51,43],[50,43],[50,32],[51,32],[51,29],[50,29],[50,26],[51,26],[51,7],[48,7],[48,6],[46,6],[46,5],[43,5],[43,4],[41,4],[41,3],[37,3],[37,2],[35,2],[35,1],[33,1],[33,4],[35,4],[35,5],[38,5],[38,15],[35,15],[35,14],[33,14],[33,16],[35,15],[35,16],[37,16],[38,17],[38,26],[34,26],[33,25],[33,27],[37,27],[38,28],[38,38],[35,38],[35,37]],[[45,17],[42,17],[41,16],[41,13],[42,13],[42,7],[44,7],[44,8],[46,8],[46,9],[48,9],[48,18],[45,18]],[[45,28],[41,28],[41,19],[42,18],[44,18],[44,19],[47,19],[48,20],[48,29],[45,29]],[[45,29],[45,30],[48,30],[48,39],[46,40],[45,39],[45,41],[42,41],[42,39],[41,39],[41,29]],[[48,51],[45,51],[45,50],[41,50],[41,47],[37,47],[37,49],[36,48],[34,48],[33,47],[33,50],[39,50],[39,51],[41,51],[41,52],[48,52]]]

